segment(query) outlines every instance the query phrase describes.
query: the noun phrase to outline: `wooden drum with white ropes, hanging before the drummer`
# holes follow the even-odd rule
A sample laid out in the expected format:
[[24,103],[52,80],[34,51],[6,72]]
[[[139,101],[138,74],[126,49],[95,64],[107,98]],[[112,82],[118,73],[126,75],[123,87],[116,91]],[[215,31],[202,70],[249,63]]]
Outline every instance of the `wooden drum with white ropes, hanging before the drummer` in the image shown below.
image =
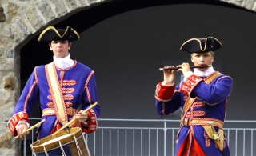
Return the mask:
[[90,156],[86,139],[78,127],[49,135],[30,145],[34,156]]

